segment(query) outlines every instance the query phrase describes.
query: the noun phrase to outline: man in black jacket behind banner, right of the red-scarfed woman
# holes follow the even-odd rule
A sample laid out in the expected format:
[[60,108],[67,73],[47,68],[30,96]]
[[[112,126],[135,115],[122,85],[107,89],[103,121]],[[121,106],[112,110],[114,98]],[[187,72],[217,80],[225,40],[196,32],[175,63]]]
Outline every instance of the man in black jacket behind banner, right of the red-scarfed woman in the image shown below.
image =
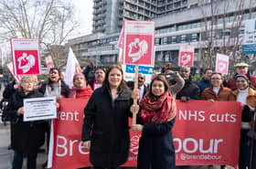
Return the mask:
[[182,67],[179,70],[180,76],[185,80],[185,85],[176,94],[177,100],[198,100],[200,97],[200,89],[197,87],[197,84],[194,83],[190,76],[190,69],[187,67]]

